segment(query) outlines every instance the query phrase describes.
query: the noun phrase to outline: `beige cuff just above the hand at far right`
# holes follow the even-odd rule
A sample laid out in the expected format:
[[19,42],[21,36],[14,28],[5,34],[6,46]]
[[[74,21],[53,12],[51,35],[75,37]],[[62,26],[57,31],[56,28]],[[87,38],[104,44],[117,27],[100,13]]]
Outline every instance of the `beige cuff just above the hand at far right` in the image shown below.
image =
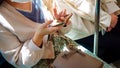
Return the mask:
[[109,2],[106,5],[108,7],[108,13],[109,14],[114,13],[114,12],[120,10],[120,8],[114,2]]

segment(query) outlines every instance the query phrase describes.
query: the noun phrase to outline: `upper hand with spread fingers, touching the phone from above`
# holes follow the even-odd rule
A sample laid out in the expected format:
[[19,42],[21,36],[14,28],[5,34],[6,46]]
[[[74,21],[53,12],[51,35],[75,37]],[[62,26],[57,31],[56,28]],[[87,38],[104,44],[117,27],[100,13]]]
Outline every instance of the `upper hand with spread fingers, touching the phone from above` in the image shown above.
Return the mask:
[[70,24],[71,21],[69,19],[71,18],[71,16],[72,16],[72,13],[67,14],[65,9],[58,13],[57,9],[54,8],[55,19],[57,19],[58,21],[64,22],[65,25]]

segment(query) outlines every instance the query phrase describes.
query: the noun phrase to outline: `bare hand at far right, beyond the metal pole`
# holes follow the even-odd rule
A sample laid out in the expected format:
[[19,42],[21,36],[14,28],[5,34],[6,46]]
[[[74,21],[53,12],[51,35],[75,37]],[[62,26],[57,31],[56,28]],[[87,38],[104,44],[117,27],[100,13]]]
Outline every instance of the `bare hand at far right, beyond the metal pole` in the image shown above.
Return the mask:
[[114,13],[110,14],[111,15],[111,24],[110,26],[107,28],[107,31],[111,31],[117,24],[118,21],[118,16],[115,15]]

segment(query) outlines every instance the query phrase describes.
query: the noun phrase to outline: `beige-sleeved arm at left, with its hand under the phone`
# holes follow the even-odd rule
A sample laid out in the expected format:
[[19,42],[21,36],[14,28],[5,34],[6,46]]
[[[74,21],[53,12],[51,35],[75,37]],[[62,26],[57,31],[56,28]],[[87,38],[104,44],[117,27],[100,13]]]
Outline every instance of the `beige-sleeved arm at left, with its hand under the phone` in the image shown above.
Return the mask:
[[0,19],[0,51],[9,63],[20,68],[35,65],[44,54],[44,42],[43,47],[39,47],[42,36],[59,29],[47,28],[51,22],[35,24],[5,2],[0,6]]

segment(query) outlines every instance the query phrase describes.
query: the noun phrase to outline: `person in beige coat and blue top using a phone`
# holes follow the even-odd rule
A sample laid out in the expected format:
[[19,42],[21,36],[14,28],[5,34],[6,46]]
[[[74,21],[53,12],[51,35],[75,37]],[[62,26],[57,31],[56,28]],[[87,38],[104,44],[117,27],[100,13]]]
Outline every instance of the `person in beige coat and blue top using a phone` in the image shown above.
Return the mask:
[[[40,0],[4,0],[0,5],[0,52],[17,68],[30,68],[41,59],[54,57],[53,47],[45,47],[48,34],[64,27],[51,27],[53,19],[44,19],[42,6]],[[66,20],[66,15],[66,10],[58,13],[54,9],[54,18],[59,21]]]

